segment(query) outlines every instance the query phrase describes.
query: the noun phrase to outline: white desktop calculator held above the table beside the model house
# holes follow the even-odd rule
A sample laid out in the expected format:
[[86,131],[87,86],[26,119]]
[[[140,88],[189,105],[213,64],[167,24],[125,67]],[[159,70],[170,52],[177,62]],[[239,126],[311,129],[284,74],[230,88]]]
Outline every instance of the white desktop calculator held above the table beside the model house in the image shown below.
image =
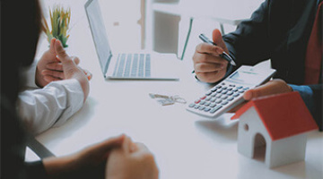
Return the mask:
[[211,90],[189,103],[187,110],[216,118],[240,105],[244,101],[243,93],[246,90],[269,81],[274,74],[275,69],[257,69],[254,66],[242,65]]

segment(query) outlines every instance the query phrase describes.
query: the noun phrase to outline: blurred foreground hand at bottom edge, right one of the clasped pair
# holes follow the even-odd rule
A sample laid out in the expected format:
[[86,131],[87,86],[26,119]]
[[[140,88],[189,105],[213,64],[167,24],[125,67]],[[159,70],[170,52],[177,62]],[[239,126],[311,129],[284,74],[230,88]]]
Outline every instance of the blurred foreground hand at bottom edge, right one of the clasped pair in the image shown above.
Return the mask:
[[106,179],[157,179],[158,173],[153,154],[129,138],[110,152],[106,166]]

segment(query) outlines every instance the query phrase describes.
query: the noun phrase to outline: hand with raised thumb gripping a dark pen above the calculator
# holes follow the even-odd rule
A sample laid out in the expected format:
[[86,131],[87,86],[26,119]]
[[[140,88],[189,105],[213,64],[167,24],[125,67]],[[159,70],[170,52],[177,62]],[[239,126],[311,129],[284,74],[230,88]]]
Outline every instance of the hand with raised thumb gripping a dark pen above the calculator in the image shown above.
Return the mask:
[[196,52],[193,55],[196,77],[200,81],[210,83],[223,79],[228,62],[220,55],[223,54],[223,51],[229,54],[220,30],[213,31],[213,40],[217,46],[201,43],[196,47]]

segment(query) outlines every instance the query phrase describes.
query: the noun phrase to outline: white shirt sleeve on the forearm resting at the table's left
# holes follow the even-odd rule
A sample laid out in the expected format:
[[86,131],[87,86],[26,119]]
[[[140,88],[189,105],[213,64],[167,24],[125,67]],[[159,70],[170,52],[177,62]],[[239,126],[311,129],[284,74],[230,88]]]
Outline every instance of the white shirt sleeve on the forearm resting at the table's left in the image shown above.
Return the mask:
[[64,124],[83,107],[84,94],[75,79],[53,81],[39,89],[35,84],[37,62],[26,69],[26,88],[19,94],[18,112],[30,132],[37,134]]

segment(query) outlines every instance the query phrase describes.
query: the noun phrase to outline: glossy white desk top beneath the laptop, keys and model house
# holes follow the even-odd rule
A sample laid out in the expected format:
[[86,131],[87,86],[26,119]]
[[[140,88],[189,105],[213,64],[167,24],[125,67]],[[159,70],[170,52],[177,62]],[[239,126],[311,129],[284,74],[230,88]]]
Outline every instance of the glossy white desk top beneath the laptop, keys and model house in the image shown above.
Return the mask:
[[[231,121],[231,114],[210,120],[189,113],[181,104],[162,107],[148,96],[180,95],[190,102],[211,88],[190,74],[191,62],[174,58],[179,81],[106,81],[86,19],[74,27],[69,44],[68,53],[77,54],[80,65],[90,70],[93,78],[83,108],[63,126],[36,138],[55,155],[67,155],[126,133],[153,152],[162,179],[322,177],[322,132],[310,132],[305,161],[268,169],[263,161],[238,153],[238,121]],[[40,46],[48,44],[43,41]]]

